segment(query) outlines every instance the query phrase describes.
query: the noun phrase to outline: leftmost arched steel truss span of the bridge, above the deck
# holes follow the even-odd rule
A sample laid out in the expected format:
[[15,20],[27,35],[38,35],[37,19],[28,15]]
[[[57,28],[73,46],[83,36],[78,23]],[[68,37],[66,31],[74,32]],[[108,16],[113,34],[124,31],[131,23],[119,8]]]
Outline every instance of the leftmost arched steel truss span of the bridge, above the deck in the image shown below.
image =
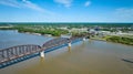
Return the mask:
[[35,53],[41,51],[41,46],[39,45],[18,45],[4,50],[0,50],[0,63],[11,61],[24,55],[29,55],[31,53]]

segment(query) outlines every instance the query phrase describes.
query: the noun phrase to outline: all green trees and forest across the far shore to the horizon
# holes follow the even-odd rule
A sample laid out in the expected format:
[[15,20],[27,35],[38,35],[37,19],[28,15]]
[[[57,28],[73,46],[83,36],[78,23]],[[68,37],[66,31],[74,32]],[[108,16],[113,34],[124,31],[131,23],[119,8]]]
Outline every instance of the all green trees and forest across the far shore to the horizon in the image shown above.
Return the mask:
[[[133,31],[133,24],[132,23],[0,23],[0,30],[18,30],[19,32],[29,32],[29,33],[39,33],[39,34],[51,34],[53,36],[60,36],[61,34],[68,34],[71,33],[74,36],[82,36],[82,35],[92,35],[86,32],[70,32],[72,28],[81,29],[81,28],[88,28],[93,29],[94,27],[101,28],[101,31],[110,31],[110,32],[116,32],[117,30],[121,30],[123,32]],[[4,28],[7,27],[7,28]],[[60,28],[66,28],[66,29],[60,29]],[[122,43],[122,44],[129,44],[133,45],[133,35],[104,35],[104,38],[94,38],[94,34],[92,36],[94,40],[102,40],[102,41],[110,41],[115,43]]]

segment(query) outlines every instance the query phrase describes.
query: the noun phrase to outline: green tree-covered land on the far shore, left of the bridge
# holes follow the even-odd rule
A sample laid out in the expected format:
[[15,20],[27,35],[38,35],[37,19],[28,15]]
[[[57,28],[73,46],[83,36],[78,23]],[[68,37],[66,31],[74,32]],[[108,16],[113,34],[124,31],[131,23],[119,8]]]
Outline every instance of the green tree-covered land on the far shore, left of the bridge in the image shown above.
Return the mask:
[[11,28],[1,28],[1,30],[18,30],[18,32],[40,33],[42,35],[51,34],[53,36],[60,36],[61,34],[68,33],[66,30],[40,25],[13,25]]

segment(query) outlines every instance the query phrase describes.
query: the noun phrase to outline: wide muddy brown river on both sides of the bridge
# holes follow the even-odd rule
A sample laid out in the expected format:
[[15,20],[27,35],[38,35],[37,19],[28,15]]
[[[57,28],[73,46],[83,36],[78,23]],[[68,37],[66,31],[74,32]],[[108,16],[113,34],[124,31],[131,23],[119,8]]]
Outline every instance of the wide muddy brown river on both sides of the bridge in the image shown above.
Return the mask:
[[[42,45],[52,38],[0,31],[0,49],[21,44]],[[133,46],[86,40],[7,66],[0,74],[133,74]]]

